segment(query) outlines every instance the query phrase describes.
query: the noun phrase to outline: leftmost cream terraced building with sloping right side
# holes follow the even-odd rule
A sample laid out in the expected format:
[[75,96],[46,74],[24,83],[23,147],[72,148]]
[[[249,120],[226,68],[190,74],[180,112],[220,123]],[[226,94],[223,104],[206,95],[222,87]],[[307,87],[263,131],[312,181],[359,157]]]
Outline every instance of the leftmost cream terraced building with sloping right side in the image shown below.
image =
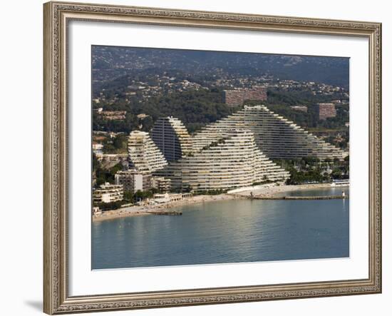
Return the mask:
[[130,168],[135,168],[141,173],[152,173],[167,165],[159,148],[155,146],[148,133],[143,131],[130,132],[128,158]]

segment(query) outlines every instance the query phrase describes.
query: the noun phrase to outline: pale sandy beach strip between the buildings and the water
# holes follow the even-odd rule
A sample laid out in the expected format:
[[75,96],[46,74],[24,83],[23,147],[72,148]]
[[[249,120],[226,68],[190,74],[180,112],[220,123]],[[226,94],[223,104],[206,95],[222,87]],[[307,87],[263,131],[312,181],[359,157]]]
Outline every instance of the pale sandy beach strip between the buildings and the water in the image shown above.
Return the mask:
[[[193,205],[198,203],[219,201],[219,200],[234,200],[242,198],[251,198],[253,194],[254,198],[277,198],[282,193],[288,193],[296,190],[311,190],[321,188],[334,188],[331,187],[330,183],[315,183],[315,184],[302,184],[302,185],[274,185],[268,184],[257,187],[252,190],[246,190],[239,193],[222,193],[219,195],[195,195],[190,198],[184,198],[182,200],[173,201],[164,204],[155,205],[138,205],[129,206],[128,208],[119,208],[118,210],[107,210],[98,215],[93,215],[93,222],[102,220],[113,220],[116,218],[128,218],[132,216],[145,216],[153,215],[154,213],[162,213],[170,208],[175,208],[182,205]],[[346,188],[342,187],[342,188]]]

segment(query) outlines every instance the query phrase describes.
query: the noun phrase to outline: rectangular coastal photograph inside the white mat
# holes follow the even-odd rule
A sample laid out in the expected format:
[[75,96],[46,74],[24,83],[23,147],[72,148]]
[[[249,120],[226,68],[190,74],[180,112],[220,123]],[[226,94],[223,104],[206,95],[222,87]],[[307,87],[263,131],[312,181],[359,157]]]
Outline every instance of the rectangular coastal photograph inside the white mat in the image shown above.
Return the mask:
[[350,58],[91,46],[91,269],[350,258]]

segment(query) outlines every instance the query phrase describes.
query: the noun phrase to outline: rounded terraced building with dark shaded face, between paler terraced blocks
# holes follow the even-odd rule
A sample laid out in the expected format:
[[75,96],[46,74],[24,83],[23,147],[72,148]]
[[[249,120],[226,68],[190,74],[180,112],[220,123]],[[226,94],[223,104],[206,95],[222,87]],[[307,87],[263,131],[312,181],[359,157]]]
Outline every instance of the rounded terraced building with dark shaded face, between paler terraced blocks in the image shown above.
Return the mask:
[[192,152],[190,135],[178,118],[158,118],[150,135],[167,161],[178,160]]

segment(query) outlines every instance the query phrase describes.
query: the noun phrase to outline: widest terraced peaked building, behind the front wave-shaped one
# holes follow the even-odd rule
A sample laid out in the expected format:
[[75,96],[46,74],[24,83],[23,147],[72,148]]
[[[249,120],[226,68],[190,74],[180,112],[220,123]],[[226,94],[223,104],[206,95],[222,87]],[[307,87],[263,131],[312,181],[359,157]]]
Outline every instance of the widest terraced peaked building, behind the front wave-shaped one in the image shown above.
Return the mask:
[[260,150],[272,159],[316,157],[343,159],[347,153],[317,138],[266,106],[244,106],[227,118],[216,121],[192,137],[193,148],[201,151],[213,141],[225,137],[233,128],[249,128]]

